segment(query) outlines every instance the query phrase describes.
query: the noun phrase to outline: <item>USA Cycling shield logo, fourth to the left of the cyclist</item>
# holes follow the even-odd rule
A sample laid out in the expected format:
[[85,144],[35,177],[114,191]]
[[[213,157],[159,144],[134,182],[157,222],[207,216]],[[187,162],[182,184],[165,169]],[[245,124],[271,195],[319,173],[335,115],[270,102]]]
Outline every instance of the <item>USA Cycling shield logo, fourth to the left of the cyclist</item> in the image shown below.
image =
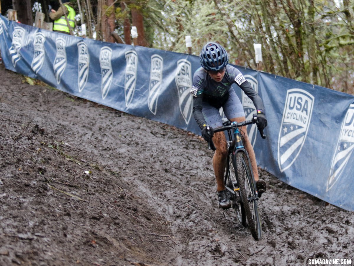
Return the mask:
[[99,65],[101,66],[101,91],[102,91],[102,99],[106,98],[110,84],[113,79],[113,70],[112,70],[112,49],[107,46],[101,48],[101,52],[99,54]]

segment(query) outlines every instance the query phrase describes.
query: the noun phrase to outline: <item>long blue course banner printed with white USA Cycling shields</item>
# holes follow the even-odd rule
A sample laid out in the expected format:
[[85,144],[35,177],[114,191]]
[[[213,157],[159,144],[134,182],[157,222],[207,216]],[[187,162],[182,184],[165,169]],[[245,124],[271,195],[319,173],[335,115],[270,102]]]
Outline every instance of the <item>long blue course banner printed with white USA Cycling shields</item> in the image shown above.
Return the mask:
[[[190,88],[199,57],[49,32],[0,16],[7,69],[64,92],[200,134]],[[238,67],[238,66],[236,66]],[[354,210],[354,96],[238,67],[264,101],[267,139],[248,126],[257,163],[281,181]],[[246,117],[255,106],[234,84]]]

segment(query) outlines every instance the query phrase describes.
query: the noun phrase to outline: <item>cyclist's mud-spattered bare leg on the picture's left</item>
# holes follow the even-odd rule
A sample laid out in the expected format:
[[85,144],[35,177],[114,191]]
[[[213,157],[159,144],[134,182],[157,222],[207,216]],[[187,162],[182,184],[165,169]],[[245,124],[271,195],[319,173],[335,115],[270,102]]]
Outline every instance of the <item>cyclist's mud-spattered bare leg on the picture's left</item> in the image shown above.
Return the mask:
[[225,189],[224,185],[224,172],[225,161],[227,156],[226,138],[223,132],[216,132],[213,136],[213,142],[216,147],[216,151],[213,156],[213,167],[215,172],[217,191]]

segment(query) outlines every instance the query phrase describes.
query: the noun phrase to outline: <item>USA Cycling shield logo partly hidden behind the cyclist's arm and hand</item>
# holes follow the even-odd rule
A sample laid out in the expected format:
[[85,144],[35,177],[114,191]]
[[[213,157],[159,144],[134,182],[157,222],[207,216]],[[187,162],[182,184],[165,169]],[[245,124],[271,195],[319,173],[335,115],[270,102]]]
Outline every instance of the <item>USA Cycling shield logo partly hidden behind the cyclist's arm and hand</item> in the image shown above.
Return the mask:
[[[251,83],[252,88],[258,93],[258,82],[255,78],[253,78],[250,75],[245,75],[245,79]],[[253,104],[252,100],[244,93],[244,91],[241,91],[241,97],[242,97],[242,106],[245,111],[245,116],[246,120],[251,120],[253,117],[253,114],[256,113],[256,107]],[[252,147],[255,146],[256,143],[256,138],[257,138],[257,125],[256,124],[250,124],[247,125],[247,132],[249,139],[251,140]]]

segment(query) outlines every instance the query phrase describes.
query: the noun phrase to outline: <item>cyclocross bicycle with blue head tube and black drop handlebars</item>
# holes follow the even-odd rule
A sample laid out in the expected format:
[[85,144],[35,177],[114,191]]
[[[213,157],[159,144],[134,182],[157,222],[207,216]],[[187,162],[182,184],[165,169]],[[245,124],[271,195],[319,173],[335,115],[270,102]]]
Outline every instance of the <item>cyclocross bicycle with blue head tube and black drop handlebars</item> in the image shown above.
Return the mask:
[[[227,131],[228,153],[226,157],[226,172],[224,177],[225,188],[232,208],[236,212],[238,222],[250,228],[254,239],[262,238],[261,217],[258,211],[258,192],[253,177],[250,157],[244,147],[244,138],[239,129],[242,126],[257,122],[257,116],[253,115],[252,120],[241,123],[226,121],[223,127],[214,129],[214,132]],[[263,131],[259,131],[265,139]],[[208,143],[209,149],[216,150],[212,140]]]

